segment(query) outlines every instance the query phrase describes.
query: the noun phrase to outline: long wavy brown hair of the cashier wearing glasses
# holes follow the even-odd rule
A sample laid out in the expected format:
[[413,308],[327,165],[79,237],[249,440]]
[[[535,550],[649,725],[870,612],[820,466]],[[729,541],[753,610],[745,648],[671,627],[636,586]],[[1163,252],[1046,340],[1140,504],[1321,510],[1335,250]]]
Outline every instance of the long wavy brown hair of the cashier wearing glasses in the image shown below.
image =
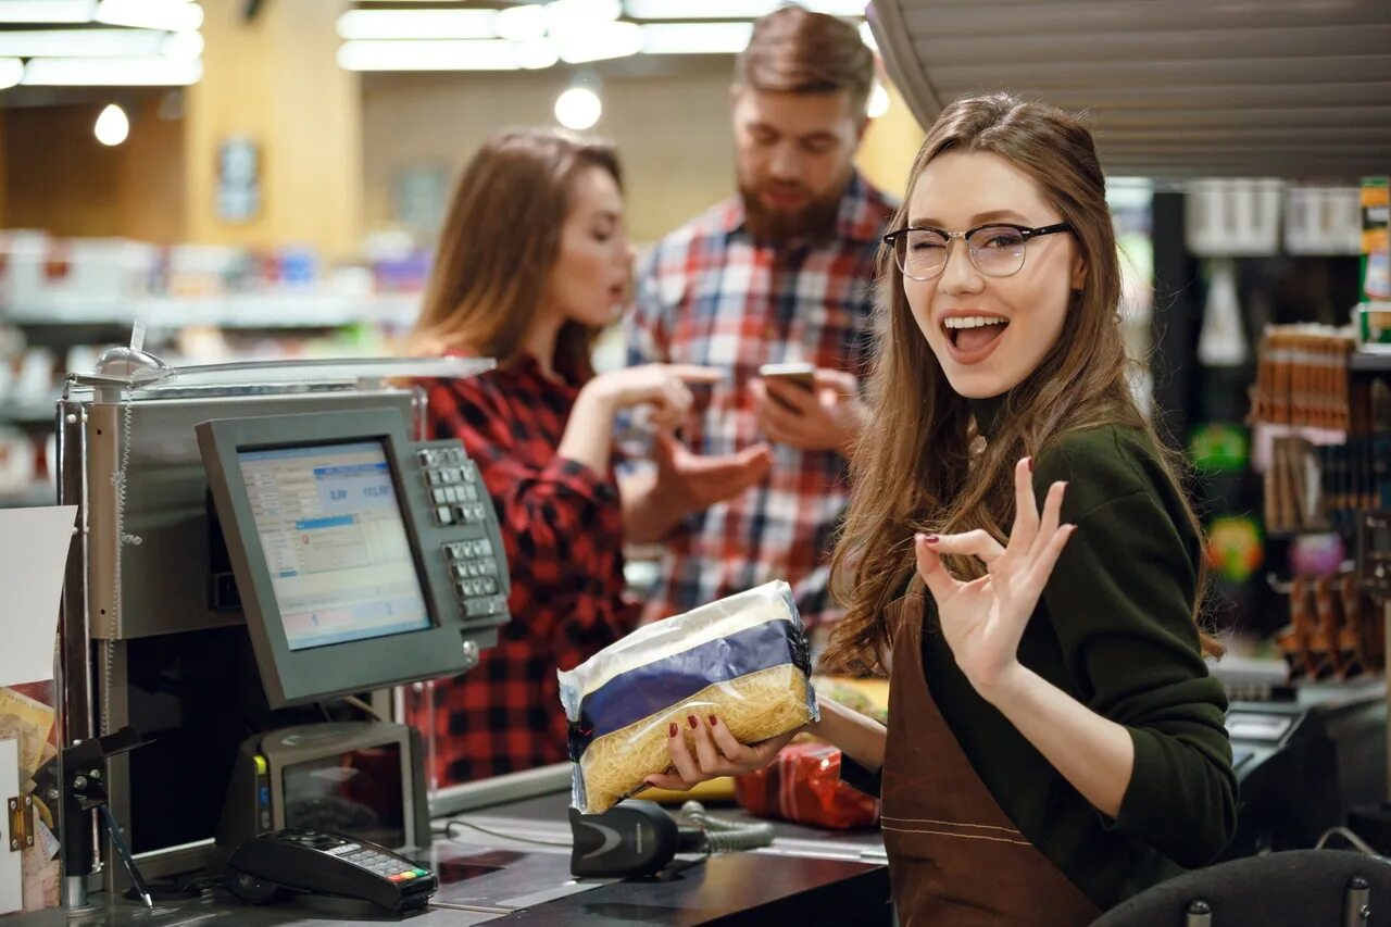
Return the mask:
[[[922,142],[893,228],[907,221],[911,187],[922,170],[949,150],[995,153],[1028,174],[1071,225],[1086,278],[1070,309],[1068,337],[1010,391],[997,429],[972,455],[968,402],[947,383],[914,322],[892,248],[879,249],[869,415],[851,461],[850,508],[832,561],[832,589],[847,611],[823,670],[882,671],[892,646],[882,614],[914,576],[912,534],[985,529],[1003,541],[1014,509],[1015,462],[1059,434],[1106,425],[1142,429],[1180,486],[1178,457],[1155,436],[1127,383],[1129,362],[1117,324],[1120,262],[1092,134],[1063,110],[1007,93],[960,99]],[[1182,491],[1178,497],[1202,537]],[[949,558],[949,566],[958,576],[983,572],[974,558]],[[1206,564],[1199,558],[1195,621],[1205,586]],[[1205,653],[1221,653],[1212,636],[1200,635]]]

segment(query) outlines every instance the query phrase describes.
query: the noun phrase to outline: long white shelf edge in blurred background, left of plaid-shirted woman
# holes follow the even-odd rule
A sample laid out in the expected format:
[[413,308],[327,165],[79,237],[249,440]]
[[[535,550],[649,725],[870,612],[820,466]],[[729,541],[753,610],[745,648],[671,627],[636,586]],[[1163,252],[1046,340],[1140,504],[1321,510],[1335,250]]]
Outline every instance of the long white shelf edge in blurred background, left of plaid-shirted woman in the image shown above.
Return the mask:
[[0,306],[0,323],[15,326],[128,326],[152,328],[218,326],[224,328],[331,328],[346,324],[413,324],[417,294],[341,296],[284,292],[228,296],[72,296],[49,295]]

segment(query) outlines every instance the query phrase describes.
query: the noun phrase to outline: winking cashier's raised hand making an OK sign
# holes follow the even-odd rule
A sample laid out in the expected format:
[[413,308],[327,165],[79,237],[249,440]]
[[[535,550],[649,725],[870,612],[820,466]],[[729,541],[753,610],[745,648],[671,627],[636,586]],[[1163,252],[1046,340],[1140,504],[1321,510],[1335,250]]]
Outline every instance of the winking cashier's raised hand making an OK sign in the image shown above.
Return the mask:
[[[1039,518],[1032,462],[1014,468],[1014,528],[1007,546],[983,530],[918,534],[918,573],[938,603],[942,635],[957,665],[986,700],[1020,668],[1020,637],[1075,525],[1059,525],[1066,483],[1053,483]],[[979,557],[986,575],[961,582],[939,557]]]

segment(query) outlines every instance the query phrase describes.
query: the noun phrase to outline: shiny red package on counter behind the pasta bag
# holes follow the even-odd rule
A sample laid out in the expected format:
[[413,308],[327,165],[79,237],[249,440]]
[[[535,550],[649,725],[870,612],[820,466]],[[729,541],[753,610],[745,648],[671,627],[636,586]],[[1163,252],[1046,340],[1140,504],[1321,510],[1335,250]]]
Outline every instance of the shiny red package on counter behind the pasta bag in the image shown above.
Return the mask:
[[840,750],[789,743],[757,772],[734,777],[734,798],[750,814],[811,827],[851,830],[879,823],[879,799],[840,781]]

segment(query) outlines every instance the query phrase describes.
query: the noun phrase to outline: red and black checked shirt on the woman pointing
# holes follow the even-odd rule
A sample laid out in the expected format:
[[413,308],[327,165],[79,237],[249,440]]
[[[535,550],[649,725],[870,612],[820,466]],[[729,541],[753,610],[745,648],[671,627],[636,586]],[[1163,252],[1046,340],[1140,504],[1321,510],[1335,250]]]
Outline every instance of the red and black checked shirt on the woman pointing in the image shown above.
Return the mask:
[[477,464],[502,526],[512,621],[462,676],[437,681],[440,785],[559,763],[566,720],[555,671],[570,670],[636,624],[623,599],[623,516],[613,470],[558,457],[579,387],[523,356],[466,380],[424,384],[434,438],[456,437]]

